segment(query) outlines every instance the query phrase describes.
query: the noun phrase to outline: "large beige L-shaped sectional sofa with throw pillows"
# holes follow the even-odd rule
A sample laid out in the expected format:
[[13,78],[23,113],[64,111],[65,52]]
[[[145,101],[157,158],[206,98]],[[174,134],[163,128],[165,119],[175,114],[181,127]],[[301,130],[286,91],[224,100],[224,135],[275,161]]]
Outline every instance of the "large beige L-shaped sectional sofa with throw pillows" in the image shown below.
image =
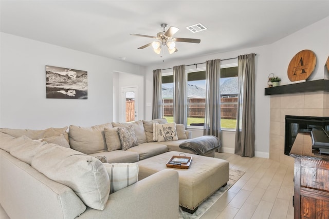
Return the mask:
[[[40,131],[1,128],[1,205],[11,218],[177,218],[176,171],[166,169],[109,193],[107,184],[115,180],[96,158],[105,156],[107,163],[135,163],[168,150],[193,153],[178,147],[179,142],[191,138],[184,126],[176,126],[181,139],[155,142],[153,123],[167,121],[71,125],[68,132],[68,127]],[[119,129],[131,127],[138,145],[126,148]],[[174,142],[176,147],[171,146]],[[96,199],[95,194],[85,197],[86,188],[80,190],[84,184],[87,188],[97,185]]]

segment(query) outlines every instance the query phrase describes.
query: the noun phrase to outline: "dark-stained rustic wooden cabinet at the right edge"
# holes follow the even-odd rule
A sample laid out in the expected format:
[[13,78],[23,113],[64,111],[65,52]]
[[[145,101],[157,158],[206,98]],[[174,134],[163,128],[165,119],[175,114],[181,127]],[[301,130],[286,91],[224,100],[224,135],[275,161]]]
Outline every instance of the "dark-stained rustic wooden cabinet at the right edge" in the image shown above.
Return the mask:
[[294,218],[329,218],[329,156],[312,150],[309,133],[298,133],[295,157]]

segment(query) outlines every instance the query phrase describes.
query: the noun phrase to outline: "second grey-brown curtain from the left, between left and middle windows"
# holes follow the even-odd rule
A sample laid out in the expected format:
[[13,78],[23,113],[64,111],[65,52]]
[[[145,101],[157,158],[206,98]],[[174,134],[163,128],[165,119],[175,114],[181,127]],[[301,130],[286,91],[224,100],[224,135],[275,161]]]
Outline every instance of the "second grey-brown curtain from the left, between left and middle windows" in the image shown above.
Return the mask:
[[174,122],[187,125],[187,79],[185,65],[174,66]]

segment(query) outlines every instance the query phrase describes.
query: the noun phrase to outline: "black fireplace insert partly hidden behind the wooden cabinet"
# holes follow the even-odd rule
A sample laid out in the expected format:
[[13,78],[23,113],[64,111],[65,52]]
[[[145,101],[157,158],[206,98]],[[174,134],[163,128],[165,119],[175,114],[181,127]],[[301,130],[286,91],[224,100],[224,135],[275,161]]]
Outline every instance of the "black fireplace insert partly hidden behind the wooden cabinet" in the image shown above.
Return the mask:
[[285,116],[284,154],[289,155],[298,132],[310,134],[312,129],[329,131],[329,117],[323,116]]

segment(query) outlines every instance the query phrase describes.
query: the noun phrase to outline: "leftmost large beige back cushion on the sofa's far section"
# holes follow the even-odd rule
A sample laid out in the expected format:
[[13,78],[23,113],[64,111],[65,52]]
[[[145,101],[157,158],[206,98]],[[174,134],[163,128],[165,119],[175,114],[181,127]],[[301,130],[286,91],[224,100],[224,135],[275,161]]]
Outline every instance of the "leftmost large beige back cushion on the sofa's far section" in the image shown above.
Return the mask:
[[104,128],[112,128],[110,123],[91,127],[69,126],[68,136],[72,149],[85,154],[107,151]]

